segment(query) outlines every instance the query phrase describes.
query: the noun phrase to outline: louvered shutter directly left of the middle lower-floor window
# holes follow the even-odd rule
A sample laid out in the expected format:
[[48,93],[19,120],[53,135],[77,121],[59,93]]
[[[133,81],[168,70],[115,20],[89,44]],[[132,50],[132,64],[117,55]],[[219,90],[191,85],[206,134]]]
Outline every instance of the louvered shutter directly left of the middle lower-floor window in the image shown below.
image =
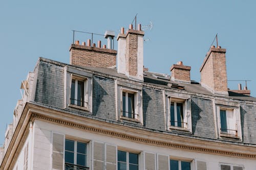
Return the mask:
[[114,170],[116,169],[116,146],[106,144],[105,145],[106,149],[106,170]]

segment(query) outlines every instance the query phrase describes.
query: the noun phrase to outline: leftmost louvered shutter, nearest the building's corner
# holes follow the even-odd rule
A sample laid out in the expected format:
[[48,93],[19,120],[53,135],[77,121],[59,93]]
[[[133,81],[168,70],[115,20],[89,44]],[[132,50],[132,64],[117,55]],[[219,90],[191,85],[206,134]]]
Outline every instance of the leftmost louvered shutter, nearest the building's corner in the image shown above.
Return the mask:
[[52,168],[63,169],[64,135],[53,133],[52,135]]

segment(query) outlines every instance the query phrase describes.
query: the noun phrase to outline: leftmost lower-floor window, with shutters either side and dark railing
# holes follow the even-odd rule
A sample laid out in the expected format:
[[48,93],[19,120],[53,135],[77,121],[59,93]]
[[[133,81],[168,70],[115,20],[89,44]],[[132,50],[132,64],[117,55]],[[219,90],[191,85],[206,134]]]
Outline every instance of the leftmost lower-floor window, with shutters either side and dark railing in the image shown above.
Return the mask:
[[87,143],[65,140],[65,169],[85,170],[87,166]]

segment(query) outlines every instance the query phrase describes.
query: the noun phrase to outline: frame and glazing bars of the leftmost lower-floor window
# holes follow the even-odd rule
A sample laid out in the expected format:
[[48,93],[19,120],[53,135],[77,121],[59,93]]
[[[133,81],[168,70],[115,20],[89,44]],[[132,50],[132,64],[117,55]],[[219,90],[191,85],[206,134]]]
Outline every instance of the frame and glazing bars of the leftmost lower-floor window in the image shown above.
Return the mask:
[[[74,166],[84,166],[84,167],[87,167],[87,168],[89,168],[89,164],[90,164],[90,160],[89,160],[89,150],[90,149],[88,149],[88,147],[89,147],[89,143],[88,142],[85,142],[85,141],[80,141],[80,140],[76,140],[76,139],[72,139],[72,138],[65,138],[65,147],[64,147],[64,157],[63,157],[63,159],[64,159],[64,164],[66,164],[66,163],[69,163],[69,162],[66,162],[66,151],[67,152],[72,152],[72,151],[68,151],[68,150],[66,150],[66,140],[71,140],[71,141],[74,141],[74,151],[73,151],[73,153],[74,153],[74,157],[73,157],[73,159],[74,159],[74,162],[73,162],[73,165]],[[86,144],[86,151],[85,151],[85,153],[84,154],[82,154],[82,153],[78,153],[77,152],[77,142],[80,142],[80,143],[84,143],[84,144]],[[85,158],[85,165],[79,165],[79,164],[77,164],[77,154],[82,154],[82,155],[85,155],[86,156],[86,158]],[[72,164],[72,163],[69,163],[69,164]],[[65,166],[64,166],[64,168],[65,168]]]

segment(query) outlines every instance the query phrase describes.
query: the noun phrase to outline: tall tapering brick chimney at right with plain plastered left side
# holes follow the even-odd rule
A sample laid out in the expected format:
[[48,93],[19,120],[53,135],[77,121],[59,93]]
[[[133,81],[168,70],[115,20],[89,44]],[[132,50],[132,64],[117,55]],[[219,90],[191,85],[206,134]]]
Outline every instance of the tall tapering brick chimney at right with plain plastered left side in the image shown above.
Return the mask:
[[215,94],[228,95],[226,49],[212,45],[200,68],[201,85]]

